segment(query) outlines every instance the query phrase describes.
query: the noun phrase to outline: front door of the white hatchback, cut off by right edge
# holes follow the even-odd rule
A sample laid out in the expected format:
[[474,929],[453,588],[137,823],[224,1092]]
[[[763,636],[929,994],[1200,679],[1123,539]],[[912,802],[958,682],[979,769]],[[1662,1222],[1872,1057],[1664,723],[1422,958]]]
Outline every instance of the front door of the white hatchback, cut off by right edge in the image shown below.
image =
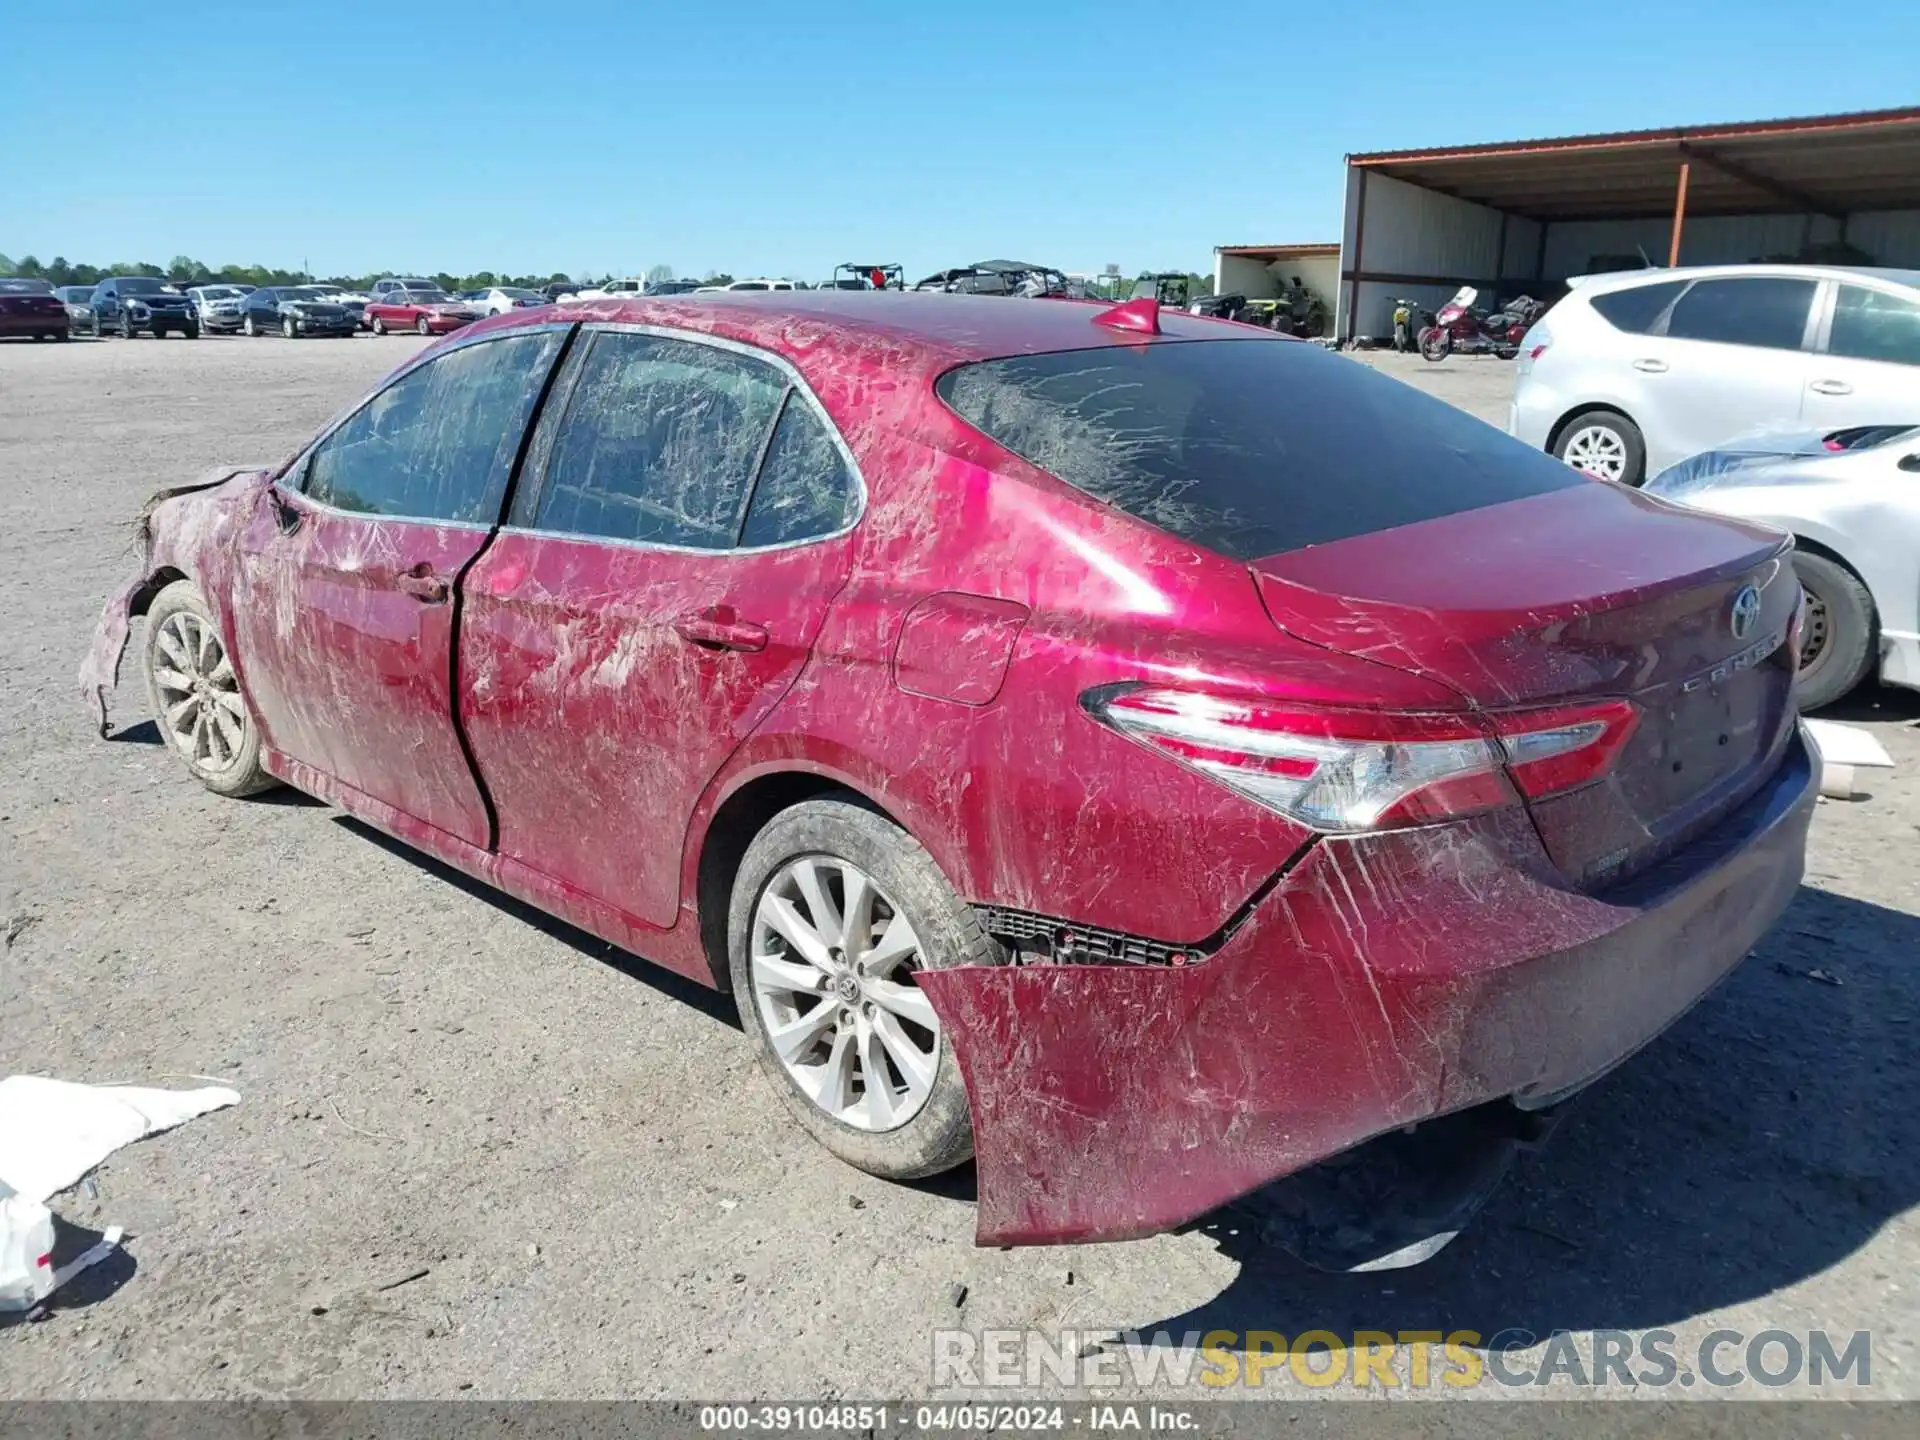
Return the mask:
[[1920,298],[1866,284],[1832,286],[1809,367],[1801,417],[1809,428],[1920,419]]

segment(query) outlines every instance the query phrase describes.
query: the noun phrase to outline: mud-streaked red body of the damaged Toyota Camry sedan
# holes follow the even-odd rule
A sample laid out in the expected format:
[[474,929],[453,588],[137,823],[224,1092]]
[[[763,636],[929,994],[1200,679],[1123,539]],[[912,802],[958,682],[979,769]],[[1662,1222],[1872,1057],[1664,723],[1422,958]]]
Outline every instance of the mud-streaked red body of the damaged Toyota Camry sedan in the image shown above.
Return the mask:
[[[1069,468],[1058,434],[1023,459],[939,397],[943,374],[996,357],[1092,365],[1246,334],[1167,315],[1144,338],[1096,313],[801,292],[484,321],[413,384],[430,396],[461,346],[520,336],[545,359],[499,392],[513,403],[445,422],[465,386],[447,411],[376,394],[338,428],[392,438],[384,407],[407,401],[426,457],[459,461],[409,492],[440,515],[369,516],[348,482],[319,505],[301,465],[207,476],[146,516],[83,689],[104,707],[129,616],[190,576],[275,776],[707,983],[724,973],[703,948],[708,829],[780,774],[881,806],[966,900],[1202,956],[1029,947],[924,977],[968,1079],[987,1242],[1165,1229],[1382,1129],[1551,1098],[1657,1035],[1799,879],[1812,791],[1791,672],[1755,670],[1709,708],[1672,693],[1740,578],[1766,582],[1766,624],[1784,616],[1784,541],[1555,472],[1530,499],[1233,559],[1177,534],[1185,492],[1142,499],[1135,461],[1164,436],[1129,430],[1117,397],[1096,426],[1121,436],[1098,465],[1133,465],[1112,497],[1035,463]],[[678,342],[637,374],[647,346],[620,340],[628,359],[593,371],[576,340],[543,392],[564,330],[538,326],[557,315],[732,349],[693,357],[703,380]],[[503,403],[522,424],[480,444]],[[816,426],[791,453],[783,415]],[[461,509],[463,474],[480,511]],[[756,484],[780,538],[739,547]],[[589,503],[549,526],[566,486]],[[1081,708],[1121,682],[1455,716],[1634,695],[1651,718],[1628,770],[1588,791],[1332,841]]]

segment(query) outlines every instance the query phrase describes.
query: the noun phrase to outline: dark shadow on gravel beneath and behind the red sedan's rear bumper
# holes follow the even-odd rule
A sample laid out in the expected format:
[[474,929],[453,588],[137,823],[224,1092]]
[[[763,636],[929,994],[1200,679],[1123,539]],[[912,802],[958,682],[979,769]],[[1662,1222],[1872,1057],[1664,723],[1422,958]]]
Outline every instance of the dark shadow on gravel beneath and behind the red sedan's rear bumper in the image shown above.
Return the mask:
[[1803,887],[1726,985],[1580,1096],[1434,1260],[1308,1269],[1267,1240],[1281,1181],[1194,1227],[1238,1277],[1140,1331],[1653,1329],[1837,1265],[1920,1202],[1916,956],[1914,916]]

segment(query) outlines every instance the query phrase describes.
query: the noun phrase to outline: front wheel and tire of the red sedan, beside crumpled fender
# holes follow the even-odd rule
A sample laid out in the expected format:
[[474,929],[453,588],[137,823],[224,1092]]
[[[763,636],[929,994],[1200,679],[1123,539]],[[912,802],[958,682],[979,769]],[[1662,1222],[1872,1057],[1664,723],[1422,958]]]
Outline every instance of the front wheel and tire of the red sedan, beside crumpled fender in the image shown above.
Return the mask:
[[215,795],[236,797],[280,783],[261,768],[253,707],[240,689],[213,611],[192,580],[175,580],[154,597],[146,611],[144,659],[154,726],[194,780]]

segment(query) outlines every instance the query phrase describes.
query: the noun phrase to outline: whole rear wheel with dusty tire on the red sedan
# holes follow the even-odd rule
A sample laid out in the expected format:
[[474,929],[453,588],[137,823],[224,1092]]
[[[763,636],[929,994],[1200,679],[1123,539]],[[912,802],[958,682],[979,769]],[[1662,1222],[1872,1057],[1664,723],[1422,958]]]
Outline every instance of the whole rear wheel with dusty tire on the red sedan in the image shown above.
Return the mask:
[[[877,964],[885,970],[862,973],[868,962],[858,950],[847,952],[852,939],[845,933],[826,950],[826,966],[816,968],[801,947],[768,924],[766,916],[776,914],[781,902],[803,927],[812,924],[812,904],[799,879],[803,866],[810,868],[826,891],[829,910],[845,904],[849,877],[872,887],[870,914],[876,914],[866,927],[866,943],[872,947],[866,954],[881,956]],[[837,891],[833,876],[839,876]],[[820,933],[831,935],[837,918],[833,910]],[[883,956],[889,948],[885,941],[900,922],[912,948],[893,945],[899,954],[889,960]],[[756,945],[770,947],[762,958],[774,964],[755,964]],[[818,945],[814,948],[820,950]],[[851,799],[803,801],[781,810],[755,835],[733,877],[728,970],[741,1027],[755,1046],[760,1069],[793,1117],[820,1144],[868,1175],[918,1179],[972,1158],[966,1083],[952,1046],[939,1033],[939,1021],[910,975],[922,968],[981,966],[996,958],[998,947],[981,929],[973,908],[954,895],[933,856],[891,820]],[[818,977],[818,991],[787,985],[808,973]],[[808,1004],[803,1008],[801,1000]],[[783,1021],[804,1023],[822,1014],[822,1008],[833,1014],[803,1031],[803,1048],[785,1044],[795,1062],[789,1069],[770,1029],[778,1031]],[[931,1027],[924,1021],[931,1021]],[[904,1064],[895,1058],[904,1054],[900,1044],[912,1054],[910,1064],[920,1077],[918,1094]],[[814,1058],[818,1066],[803,1064]],[[866,1083],[874,1060],[883,1091]],[[818,1073],[803,1079],[797,1069]],[[931,1081],[925,1081],[929,1071]],[[904,1092],[897,1092],[897,1083]],[[804,1089],[808,1085],[814,1089]],[[831,1092],[826,1092],[829,1085]],[[858,1096],[854,1085],[860,1087]],[[814,1091],[824,1094],[816,1098]],[[887,1096],[883,1106],[874,1104],[876,1092]],[[906,1116],[887,1123],[899,1112]]]

